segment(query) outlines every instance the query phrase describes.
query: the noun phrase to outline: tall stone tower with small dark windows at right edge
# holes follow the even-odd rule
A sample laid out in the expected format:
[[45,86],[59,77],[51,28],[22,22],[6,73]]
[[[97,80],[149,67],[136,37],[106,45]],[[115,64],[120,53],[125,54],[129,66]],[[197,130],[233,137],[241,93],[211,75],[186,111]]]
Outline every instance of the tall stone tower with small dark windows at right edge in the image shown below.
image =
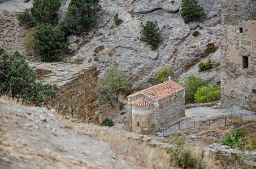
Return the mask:
[[222,1],[222,103],[256,111],[256,1]]

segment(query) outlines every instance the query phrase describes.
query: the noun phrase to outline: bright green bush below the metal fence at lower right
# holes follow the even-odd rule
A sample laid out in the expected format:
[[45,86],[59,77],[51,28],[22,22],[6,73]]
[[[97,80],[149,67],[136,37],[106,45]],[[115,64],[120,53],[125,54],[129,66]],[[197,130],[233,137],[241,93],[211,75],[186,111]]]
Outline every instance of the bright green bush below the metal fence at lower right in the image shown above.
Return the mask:
[[227,138],[222,140],[221,143],[223,145],[231,146],[232,148],[238,148],[241,150],[246,150],[245,145],[248,142],[245,140],[245,136],[247,132],[241,129],[237,129],[227,135]]

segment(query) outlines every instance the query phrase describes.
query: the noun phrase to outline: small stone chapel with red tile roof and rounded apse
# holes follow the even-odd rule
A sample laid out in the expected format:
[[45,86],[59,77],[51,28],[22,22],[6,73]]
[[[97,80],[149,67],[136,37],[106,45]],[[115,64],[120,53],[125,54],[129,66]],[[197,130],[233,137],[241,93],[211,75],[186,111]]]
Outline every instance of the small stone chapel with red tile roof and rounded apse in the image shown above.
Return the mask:
[[185,115],[185,88],[169,80],[128,96],[129,127],[147,134]]

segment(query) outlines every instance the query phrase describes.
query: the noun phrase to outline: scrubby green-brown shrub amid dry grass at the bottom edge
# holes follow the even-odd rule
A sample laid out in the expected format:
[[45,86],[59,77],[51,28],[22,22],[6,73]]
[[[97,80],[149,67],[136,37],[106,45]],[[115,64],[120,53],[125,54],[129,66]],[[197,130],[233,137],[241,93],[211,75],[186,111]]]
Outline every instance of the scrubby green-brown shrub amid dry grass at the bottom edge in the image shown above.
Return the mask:
[[184,137],[175,135],[170,141],[175,145],[175,148],[170,149],[170,166],[176,168],[206,168],[206,164],[202,161],[203,151],[201,157],[194,157],[189,150],[189,145],[185,143]]

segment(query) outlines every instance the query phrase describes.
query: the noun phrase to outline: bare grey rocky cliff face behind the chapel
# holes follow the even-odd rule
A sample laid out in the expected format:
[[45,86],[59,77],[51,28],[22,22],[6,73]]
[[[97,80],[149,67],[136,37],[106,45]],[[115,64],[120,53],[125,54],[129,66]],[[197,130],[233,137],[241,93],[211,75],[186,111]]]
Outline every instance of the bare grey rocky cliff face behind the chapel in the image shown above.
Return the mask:
[[[199,1],[205,8],[206,18],[202,23],[190,24],[185,24],[180,16],[181,0],[174,3],[170,0],[105,0],[100,3],[102,11],[95,22],[96,28],[80,37],[78,50],[69,61],[84,60],[84,63],[97,65],[99,70],[118,63],[124,72],[137,79],[136,86],[149,86],[154,75],[163,66],[173,67],[173,77],[180,79],[192,73],[203,79],[210,79],[213,83],[220,81],[220,72],[216,68],[210,72],[198,73],[196,64],[185,72],[186,65],[200,57],[208,43],[214,43],[215,46],[220,44],[220,1]],[[67,5],[68,1],[63,8]],[[124,20],[119,26],[113,21],[116,12]],[[163,41],[157,51],[151,51],[149,45],[137,39],[140,37],[140,23],[145,24],[147,20],[157,21],[159,28],[166,25],[161,33]],[[196,30],[200,34],[193,37],[192,33]],[[104,50],[95,52],[98,46],[104,46]],[[205,63],[207,59],[211,59],[218,63],[219,53],[218,49],[201,61]]]

